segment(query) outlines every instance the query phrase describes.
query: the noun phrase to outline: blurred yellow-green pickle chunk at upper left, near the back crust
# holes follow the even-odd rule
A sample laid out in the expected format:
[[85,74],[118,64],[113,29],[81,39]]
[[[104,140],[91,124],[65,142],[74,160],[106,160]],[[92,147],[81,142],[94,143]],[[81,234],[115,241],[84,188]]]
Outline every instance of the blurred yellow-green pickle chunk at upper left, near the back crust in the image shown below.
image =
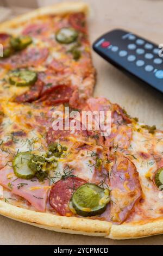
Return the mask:
[[10,45],[15,51],[21,51],[32,43],[30,36],[18,36],[17,38],[12,37]]

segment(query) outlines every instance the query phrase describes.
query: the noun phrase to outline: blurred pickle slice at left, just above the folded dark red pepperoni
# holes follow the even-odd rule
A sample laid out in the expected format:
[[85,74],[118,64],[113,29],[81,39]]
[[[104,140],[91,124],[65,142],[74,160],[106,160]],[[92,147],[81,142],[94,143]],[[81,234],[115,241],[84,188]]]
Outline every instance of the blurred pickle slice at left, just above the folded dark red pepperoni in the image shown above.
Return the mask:
[[32,86],[36,80],[36,72],[30,70],[15,70],[9,74],[9,82],[15,86]]

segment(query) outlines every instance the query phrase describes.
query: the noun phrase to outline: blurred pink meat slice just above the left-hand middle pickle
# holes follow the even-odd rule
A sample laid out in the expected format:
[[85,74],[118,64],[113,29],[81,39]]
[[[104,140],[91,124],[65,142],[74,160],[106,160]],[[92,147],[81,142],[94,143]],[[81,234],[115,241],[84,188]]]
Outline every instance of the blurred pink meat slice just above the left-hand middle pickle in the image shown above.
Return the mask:
[[0,62],[0,66],[9,66],[10,68],[26,68],[31,66],[38,66],[48,56],[47,48],[27,48],[24,51],[18,52],[10,58],[4,59]]

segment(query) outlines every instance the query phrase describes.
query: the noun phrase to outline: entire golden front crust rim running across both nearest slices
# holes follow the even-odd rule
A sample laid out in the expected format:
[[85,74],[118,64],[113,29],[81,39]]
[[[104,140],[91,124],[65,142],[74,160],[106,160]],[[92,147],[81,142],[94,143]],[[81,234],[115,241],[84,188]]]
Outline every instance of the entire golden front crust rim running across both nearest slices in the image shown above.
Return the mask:
[[52,231],[110,239],[136,239],[163,233],[163,218],[146,224],[113,225],[107,221],[64,217],[19,208],[0,200],[0,214],[12,220]]

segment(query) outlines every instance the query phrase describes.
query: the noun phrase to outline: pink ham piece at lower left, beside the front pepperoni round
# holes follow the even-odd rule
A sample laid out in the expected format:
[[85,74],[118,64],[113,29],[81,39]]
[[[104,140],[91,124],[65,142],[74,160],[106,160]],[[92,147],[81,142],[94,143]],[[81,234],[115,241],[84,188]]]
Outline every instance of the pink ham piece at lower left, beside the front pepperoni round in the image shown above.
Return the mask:
[[38,211],[46,210],[49,181],[39,182],[36,178],[25,180],[17,178],[11,167],[5,166],[0,170],[0,184],[25,198]]

